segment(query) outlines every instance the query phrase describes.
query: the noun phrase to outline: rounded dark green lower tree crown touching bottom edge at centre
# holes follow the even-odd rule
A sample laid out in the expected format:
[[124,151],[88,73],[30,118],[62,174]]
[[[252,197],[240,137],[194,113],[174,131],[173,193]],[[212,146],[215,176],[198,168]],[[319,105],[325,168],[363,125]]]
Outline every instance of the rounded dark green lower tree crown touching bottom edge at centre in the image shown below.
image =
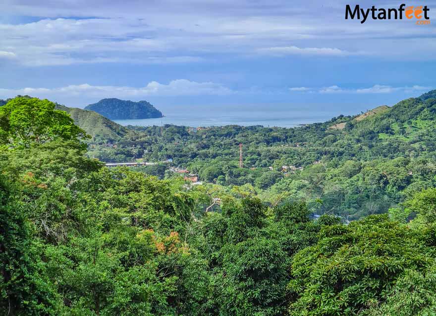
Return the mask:
[[226,245],[218,273],[220,315],[282,315],[288,282],[287,256],[277,240],[255,237]]

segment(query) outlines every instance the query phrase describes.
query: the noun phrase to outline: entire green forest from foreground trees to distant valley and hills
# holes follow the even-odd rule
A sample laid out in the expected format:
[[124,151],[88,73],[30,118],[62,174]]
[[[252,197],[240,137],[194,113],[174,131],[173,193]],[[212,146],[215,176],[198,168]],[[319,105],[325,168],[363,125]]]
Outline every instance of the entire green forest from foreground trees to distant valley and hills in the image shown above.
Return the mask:
[[[430,98],[365,124],[135,128],[103,153],[109,138],[86,152],[47,100],[2,106],[2,135],[9,104],[52,119],[18,111],[16,131],[42,132],[0,148],[2,315],[435,314],[436,162],[410,140],[432,131]],[[240,141],[252,169],[238,167]],[[188,185],[165,163],[109,169],[94,152],[174,157],[219,184]]]

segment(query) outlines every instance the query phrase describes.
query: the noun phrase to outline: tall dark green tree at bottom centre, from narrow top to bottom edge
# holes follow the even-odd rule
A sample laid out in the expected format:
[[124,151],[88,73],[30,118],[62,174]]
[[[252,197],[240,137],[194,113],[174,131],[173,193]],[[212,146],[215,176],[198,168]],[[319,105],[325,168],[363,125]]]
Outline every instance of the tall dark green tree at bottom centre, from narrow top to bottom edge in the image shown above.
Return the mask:
[[[283,245],[263,229],[267,208],[256,198],[244,198],[232,212],[225,211],[227,233],[215,228],[215,238],[224,235],[216,269],[216,302],[219,315],[281,315],[288,282],[288,257]],[[212,219],[212,217],[209,217]],[[209,222],[209,221],[208,221]],[[212,242],[208,242],[212,246]]]

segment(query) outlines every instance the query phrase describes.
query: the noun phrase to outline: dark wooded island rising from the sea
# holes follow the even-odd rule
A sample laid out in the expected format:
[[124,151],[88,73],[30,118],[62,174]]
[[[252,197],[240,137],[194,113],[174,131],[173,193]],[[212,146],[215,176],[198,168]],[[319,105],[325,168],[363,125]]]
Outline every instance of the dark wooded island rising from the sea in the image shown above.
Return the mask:
[[85,110],[95,111],[110,120],[151,119],[163,117],[162,112],[147,101],[126,101],[116,98],[102,99]]

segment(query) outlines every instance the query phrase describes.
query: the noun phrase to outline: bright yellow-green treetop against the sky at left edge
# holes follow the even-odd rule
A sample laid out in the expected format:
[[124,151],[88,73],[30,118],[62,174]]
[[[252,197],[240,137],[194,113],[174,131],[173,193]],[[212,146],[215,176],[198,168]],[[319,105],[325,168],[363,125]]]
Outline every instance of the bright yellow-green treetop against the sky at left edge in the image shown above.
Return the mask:
[[16,97],[0,107],[0,141],[8,147],[30,147],[55,138],[76,140],[86,133],[47,99]]

